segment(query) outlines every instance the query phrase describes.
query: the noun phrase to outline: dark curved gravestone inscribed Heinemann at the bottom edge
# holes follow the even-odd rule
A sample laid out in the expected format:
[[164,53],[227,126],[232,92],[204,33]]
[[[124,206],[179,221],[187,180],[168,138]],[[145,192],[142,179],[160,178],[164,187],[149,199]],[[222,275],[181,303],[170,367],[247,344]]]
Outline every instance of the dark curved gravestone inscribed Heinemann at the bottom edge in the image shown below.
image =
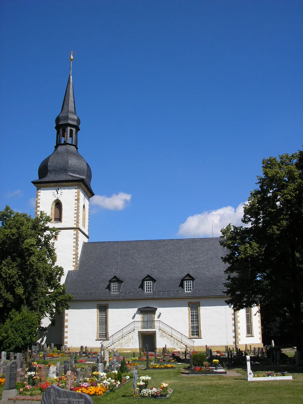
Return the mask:
[[93,404],[93,400],[84,393],[60,389],[56,385],[47,387],[42,396],[42,404]]

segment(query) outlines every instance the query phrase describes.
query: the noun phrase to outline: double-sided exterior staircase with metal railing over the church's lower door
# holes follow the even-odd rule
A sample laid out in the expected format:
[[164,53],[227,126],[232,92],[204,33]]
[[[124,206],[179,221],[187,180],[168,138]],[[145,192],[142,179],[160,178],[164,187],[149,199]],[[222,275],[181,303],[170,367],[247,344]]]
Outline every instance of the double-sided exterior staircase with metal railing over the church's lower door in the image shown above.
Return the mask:
[[194,349],[194,340],[190,339],[186,335],[182,334],[175,328],[168,326],[160,320],[154,321],[133,321],[127,326],[121,328],[121,330],[115,332],[108,339],[102,341],[102,344],[106,348],[113,348],[115,344],[130,335],[135,330],[161,330],[166,335],[173,338],[179,345],[187,345],[187,349]]

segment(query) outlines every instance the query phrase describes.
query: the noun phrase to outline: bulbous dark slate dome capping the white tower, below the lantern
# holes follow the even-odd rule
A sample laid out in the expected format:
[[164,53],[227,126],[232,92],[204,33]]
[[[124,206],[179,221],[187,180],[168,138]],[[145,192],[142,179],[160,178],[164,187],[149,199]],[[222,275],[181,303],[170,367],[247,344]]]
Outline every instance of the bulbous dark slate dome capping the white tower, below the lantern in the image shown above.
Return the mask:
[[65,183],[80,181],[87,188],[90,196],[94,193],[90,187],[92,172],[90,166],[78,153],[77,148],[69,143],[61,143],[53,153],[39,166],[39,179],[32,181],[34,185],[45,183]]

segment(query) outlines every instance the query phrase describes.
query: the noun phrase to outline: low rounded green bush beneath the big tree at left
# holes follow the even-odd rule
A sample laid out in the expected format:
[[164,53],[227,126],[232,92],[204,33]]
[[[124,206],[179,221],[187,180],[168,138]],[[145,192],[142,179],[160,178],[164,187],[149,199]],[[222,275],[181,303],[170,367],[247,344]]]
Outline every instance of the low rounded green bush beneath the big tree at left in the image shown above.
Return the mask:
[[0,347],[4,351],[25,351],[33,341],[37,341],[38,316],[23,307],[19,313],[13,309],[4,324],[0,324]]

